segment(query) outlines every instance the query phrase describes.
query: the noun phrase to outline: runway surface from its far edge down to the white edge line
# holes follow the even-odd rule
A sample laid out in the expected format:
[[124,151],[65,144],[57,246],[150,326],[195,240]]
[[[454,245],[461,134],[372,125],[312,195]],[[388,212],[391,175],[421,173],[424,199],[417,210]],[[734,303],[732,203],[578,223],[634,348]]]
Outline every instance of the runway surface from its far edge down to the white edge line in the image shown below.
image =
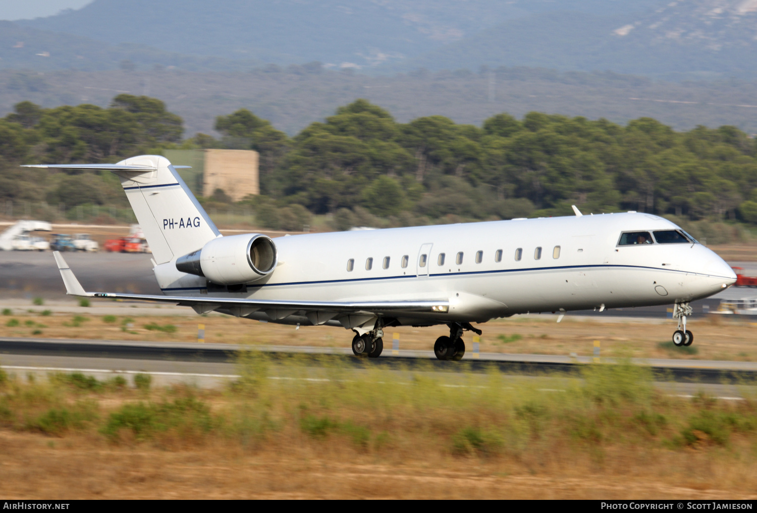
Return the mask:
[[[454,373],[461,370],[485,372],[497,368],[505,374],[566,377],[580,375],[591,358],[560,355],[503,355],[466,353],[463,361],[439,361],[430,351],[385,351],[381,358],[356,358],[349,349],[257,346],[244,348],[231,344],[200,343],[123,343],[107,340],[0,339],[3,365],[45,368],[86,368],[105,371],[147,371],[193,374],[235,374],[238,351],[266,352],[271,360],[295,360],[308,367],[324,362],[349,368],[385,368],[397,371],[420,370]],[[610,363],[610,360],[603,360]],[[650,365],[656,380],[678,383],[757,383],[757,363],[746,361],[681,361],[653,359],[636,361]]]

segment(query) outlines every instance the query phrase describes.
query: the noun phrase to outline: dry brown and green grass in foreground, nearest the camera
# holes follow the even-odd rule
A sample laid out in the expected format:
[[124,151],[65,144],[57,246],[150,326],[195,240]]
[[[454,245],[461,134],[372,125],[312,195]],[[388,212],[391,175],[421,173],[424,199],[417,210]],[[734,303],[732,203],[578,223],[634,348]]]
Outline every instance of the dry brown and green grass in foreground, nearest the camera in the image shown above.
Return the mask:
[[[420,371],[350,371],[324,362],[314,378],[296,360],[277,365],[247,355],[242,379],[217,391],[139,391],[72,377],[53,385],[7,380],[0,390],[0,493],[757,496],[753,398],[671,398],[652,388],[645,369],[629,365],[592,367],[584,380],[554,383],[463,374],[456,386]],[[307,379],[270,379],[282,372]],[[49,411],[63,409],[69,422],[61,415],[50,421]]]

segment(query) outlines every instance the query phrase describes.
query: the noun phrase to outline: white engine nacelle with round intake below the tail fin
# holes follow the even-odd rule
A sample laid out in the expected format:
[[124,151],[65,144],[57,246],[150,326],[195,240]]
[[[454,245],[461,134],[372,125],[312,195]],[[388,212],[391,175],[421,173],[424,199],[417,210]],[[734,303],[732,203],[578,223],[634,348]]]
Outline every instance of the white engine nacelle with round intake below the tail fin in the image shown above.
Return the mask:
[[279,259],[276,244],[260,233],[218,237],[202,249],[176,259],[182,273],[206,277],[218,285],[252,283],[268,276]]

